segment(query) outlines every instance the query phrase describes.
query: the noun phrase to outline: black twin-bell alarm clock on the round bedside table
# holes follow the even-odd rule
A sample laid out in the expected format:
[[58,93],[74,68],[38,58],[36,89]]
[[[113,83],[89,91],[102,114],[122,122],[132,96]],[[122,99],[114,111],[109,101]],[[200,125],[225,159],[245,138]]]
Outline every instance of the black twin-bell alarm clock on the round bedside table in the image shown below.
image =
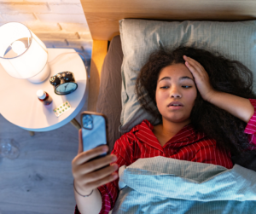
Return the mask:
[[73,72],[59,72],[49,78],[56,95],[68,95],[77,90],[79,85],[75,83]]

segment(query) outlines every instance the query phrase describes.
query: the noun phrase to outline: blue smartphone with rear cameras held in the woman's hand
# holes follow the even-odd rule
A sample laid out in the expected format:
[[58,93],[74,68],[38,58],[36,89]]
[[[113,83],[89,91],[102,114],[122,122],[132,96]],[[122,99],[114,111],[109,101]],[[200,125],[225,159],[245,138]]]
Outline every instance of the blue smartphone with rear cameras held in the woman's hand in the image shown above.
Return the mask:
[[[95,147],[108,145],[108,119],[104,114],[84,111],[81,113],[81,126],[84,152]],[[108,152],[102,153],[89,161],[100,159],[109,153],[108,150]],[[101,169],[107,166],[104,166]]]

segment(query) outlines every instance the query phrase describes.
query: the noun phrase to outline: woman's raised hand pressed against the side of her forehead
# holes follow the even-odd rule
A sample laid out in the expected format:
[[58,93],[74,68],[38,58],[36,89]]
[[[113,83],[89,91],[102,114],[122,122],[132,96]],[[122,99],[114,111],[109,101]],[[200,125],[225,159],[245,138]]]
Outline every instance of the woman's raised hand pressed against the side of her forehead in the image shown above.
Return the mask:
[[195,78],[195,84],[199,90],[202,99],[209,101],[216,92],[209,81],[209,76],[204,67],[198,61],[193,60],[189,56],[183,55],[183,59],[186,67],[189,68],[189,71],[192,73]]

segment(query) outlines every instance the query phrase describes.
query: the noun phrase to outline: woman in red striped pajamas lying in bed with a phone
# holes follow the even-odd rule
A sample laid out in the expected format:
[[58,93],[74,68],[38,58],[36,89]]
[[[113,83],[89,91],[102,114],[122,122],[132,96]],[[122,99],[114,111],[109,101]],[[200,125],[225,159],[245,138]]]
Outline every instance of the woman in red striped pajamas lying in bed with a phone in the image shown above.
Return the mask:
[[[256,118],[256,95],[252,84],[253,73],[247,67],[218,53],[213,55],[190,47],[154,52],[137,77],[136,93],[142,107],[160,119],[160,124],[153,126],[144,119],[121,136],[111,153],[117,157],[114,162],[119,168],[137,159],[164,156],[231,169],[234,155],[245,157],[256,153],[253,142],[256,125],[252,125],[252,118]],[[148,105],[150,101],[154,101],[155,108]],[[169,107],[172,101],[181,107]],[[99,151],[94,150],[96,154]],[[96,207],[101,207],[96,213],[108,213],[119,194],[119,179],[108,175],[118,168],[96,174],[92,171],[113,161],[105,157],[97,160],[93,168],[79,161],[82,155],[73,159],[74,182],[84,194],[90,194],[91,190],[95,194],[87,201],[76,195],[79,210],[86,213],[89,204],[95,202]]]

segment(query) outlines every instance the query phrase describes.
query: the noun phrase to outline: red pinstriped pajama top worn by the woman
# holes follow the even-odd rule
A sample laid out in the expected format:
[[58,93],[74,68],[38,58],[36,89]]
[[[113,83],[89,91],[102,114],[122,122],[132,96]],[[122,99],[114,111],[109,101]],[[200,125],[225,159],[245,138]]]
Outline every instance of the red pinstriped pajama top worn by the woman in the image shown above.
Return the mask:
[[[248,135],[248,142],[256,145],[256,100],[249,99],[254,107],[252,118],[248,121],[244,133]],[[152,158],[155,156],[182,159],[193,162],[222,165],[227,169],[233,167],[230,152],[220,151],[216,147],[216,141],[208,138],[204,133],[195,131],[191,124],[183,127],[177,132],[164,147],[160,145],[153,133],[154,126],[144,119],[137,124],[130,132],[122,135],[115,143],[112,153],[117,156],[115,163],[131,165],[137,159]],[[116,172],[118,173],[119,170]],[[102,194],[102,210],[100,214],[108,214],[113,209],[119,194],[119,177],[106,185],[99,187]],[[75,207],[75,214],[80,214],[78,207]]]

